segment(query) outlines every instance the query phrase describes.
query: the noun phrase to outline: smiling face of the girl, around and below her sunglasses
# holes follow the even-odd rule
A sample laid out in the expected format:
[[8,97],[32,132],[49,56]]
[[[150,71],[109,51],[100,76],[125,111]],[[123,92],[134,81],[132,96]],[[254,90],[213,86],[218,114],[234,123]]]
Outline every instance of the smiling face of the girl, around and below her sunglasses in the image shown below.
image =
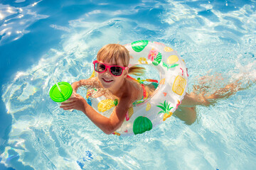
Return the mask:
[[[102,61],[99,61],[102,62]],[[110,62],[102,62],[103,64],[107,65],[118,65],[121,67],[124,67],[124,64],[122,64],[122,60],[118,59],[117,62],[113,60],[110,60]],[[114,76],[110,73],[110,69],[107,69],[105,72],[97,73],[97,77],[102,83],[102,86],[106,89],[110,89],[113,91],[117,91],[123,84],[124,78],[127,77],[128,71],[127,69],[124,69],[121,76]]]

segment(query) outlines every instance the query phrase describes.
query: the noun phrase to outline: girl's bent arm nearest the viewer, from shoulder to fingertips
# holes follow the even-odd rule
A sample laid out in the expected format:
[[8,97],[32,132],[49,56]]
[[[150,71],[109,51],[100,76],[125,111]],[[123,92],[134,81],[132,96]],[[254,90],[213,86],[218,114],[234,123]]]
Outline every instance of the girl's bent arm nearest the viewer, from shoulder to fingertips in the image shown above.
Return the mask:
[[92,123],[109,135],[122,125],[125,114],[129,108],[128,103],[130,99],[128,97],[120,99],[118,105],[110,115],[110,118],[97,113],[97,111],[85,101],[85,98],[82,98],[79,94],[75,94],[75,98],[70,98],[69,101],[70,103],[62,103],[60,108],[63,108],[64,110],[76,109],[82,111],[88,118],[90,118]]

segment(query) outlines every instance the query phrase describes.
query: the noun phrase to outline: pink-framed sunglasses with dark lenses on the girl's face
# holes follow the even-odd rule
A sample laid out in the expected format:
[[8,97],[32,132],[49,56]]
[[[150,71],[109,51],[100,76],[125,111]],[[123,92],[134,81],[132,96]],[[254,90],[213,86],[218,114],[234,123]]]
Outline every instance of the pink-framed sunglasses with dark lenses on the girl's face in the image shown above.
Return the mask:
[[128,67],[121,67],[117,65],[110,66],[107,64],[103,64],[102,62],[98,62],[97,60],[92,63],[94,64],[95,72],[102,73],[106,72],[106,70],[109,69],[110,73],[116,77],[121,76],[124,69],[128,69]]

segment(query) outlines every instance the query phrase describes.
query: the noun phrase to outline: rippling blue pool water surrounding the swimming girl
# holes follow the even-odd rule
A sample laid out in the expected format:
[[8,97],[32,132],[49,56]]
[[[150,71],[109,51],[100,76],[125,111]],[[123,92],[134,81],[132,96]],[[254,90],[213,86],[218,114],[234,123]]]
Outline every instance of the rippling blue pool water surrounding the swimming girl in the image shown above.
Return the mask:
[[198,107],[193,125],[173,117],[133,137],[105,135],[48,98],[53,79],[90,77],[103,45],[144,39],[179,52],[189,91],[205,75],[217,77],[208,93],[235,79],[246,86],[255,10],[255,0],[0,0],[0,169],[255,169],[255,85]]

